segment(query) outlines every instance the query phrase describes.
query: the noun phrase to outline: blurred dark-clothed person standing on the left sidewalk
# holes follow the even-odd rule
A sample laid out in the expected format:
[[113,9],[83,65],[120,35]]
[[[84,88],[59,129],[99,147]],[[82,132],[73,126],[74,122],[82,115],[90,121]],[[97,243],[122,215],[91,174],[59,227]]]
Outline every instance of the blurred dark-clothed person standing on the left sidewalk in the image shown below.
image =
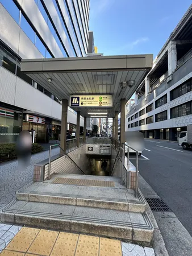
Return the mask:
[[16,154],[18,156],[19,170],[25,170],[31,160],[32,137],[29,131],[20,132],[16,141]]

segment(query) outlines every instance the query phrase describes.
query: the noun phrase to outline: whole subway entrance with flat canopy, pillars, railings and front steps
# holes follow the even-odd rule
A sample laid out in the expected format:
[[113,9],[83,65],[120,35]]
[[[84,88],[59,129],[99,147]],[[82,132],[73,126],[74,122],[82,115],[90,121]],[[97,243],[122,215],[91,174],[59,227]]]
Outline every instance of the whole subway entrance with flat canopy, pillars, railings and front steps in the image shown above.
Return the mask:
[[[22,60],[22,72],[62,101],[61,142],[35,164],[34,182],[3,209],[2,221],[151,243],[154,229],[138,188],[139,152],[133,166],[125,156],[125,126],[126,103],[152,61],[153,55]],[[77,112],[77,129],[76,138],[66,140],[68,106]],[[90,117],[112,118],[112,137],[86,138]],[[60,147],[54,157],[53,147]]]

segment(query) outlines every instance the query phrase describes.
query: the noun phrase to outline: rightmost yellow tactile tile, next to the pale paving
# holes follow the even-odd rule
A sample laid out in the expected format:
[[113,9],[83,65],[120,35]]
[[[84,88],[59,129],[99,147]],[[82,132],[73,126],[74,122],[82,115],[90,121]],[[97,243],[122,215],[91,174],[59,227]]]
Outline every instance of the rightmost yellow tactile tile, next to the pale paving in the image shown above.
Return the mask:
[[120,241],[108,238],[100,238],[99,256],[122,256]]

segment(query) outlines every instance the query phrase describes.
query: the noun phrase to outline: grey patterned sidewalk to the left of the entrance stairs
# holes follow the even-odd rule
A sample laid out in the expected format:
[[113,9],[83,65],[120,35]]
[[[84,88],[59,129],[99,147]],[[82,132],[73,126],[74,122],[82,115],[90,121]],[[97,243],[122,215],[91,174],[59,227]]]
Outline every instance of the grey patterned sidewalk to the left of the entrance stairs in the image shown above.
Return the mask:
[[[52,156],[59,154],[60,149],[54,148]],[[17,160],[0,164],[0,211],[15,199],[16,191],[30,183],[34,176],[34,164],[49,156],[49,151],[43,151],[31,156],[30,166],[25,171],[18,170]]]

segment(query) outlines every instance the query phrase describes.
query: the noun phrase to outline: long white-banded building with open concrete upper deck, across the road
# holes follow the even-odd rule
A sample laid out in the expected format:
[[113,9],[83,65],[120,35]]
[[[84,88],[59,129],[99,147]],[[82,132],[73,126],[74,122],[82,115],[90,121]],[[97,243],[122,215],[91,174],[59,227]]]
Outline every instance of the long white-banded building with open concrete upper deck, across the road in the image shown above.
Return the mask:
[[192,123],[192,5],[153,61],[126,115],[126,130],[178,141]]

